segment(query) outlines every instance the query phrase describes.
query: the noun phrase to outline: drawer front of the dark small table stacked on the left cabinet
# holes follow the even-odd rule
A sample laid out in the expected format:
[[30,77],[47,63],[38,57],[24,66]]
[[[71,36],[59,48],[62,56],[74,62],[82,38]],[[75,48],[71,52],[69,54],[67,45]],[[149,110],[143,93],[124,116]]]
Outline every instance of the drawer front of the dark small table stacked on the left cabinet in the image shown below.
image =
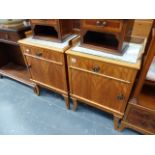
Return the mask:
[[57,19],[31,19],[32,24],[55,25]]

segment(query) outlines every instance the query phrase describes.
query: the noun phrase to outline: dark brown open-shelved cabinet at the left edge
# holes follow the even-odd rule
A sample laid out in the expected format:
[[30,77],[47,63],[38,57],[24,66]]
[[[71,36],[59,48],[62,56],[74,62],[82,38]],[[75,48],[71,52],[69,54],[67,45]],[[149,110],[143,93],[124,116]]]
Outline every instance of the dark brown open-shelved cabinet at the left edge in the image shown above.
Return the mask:
[[36,90],[35,84],[30,81],[22,52],[17,41],[25,38],[25,32],[30,26],[4,27],[0,25],[0,77],[9,77]]

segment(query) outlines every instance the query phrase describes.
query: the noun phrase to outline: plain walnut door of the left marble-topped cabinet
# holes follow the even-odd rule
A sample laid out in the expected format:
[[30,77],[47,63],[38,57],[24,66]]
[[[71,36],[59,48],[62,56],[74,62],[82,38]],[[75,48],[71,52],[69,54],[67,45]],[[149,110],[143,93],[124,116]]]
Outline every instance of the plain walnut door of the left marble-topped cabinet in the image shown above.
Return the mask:
[[48,87],[67,90],[65,67],[61,63],[26,56],[32,79]]

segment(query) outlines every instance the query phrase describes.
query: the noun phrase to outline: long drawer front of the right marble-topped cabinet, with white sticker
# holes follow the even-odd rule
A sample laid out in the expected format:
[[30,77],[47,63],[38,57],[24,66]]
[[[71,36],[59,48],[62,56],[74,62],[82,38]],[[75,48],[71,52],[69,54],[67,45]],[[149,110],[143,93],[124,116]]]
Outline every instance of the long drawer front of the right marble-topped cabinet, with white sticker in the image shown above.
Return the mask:
[[125,80],[131,83],[134,81],[137,73],[136,70],[130,68],[77,56],[69,56],[69,66],[84,69],[91,73],[116,78],[116,80]]

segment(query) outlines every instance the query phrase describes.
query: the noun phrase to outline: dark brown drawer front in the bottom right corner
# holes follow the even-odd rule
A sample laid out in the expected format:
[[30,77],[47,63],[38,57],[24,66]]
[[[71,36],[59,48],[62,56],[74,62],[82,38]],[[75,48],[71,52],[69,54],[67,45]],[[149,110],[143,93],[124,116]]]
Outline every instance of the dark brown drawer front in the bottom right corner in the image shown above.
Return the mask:
[[155,113],[137,107],[130,107],[127,122],[155,134]]

